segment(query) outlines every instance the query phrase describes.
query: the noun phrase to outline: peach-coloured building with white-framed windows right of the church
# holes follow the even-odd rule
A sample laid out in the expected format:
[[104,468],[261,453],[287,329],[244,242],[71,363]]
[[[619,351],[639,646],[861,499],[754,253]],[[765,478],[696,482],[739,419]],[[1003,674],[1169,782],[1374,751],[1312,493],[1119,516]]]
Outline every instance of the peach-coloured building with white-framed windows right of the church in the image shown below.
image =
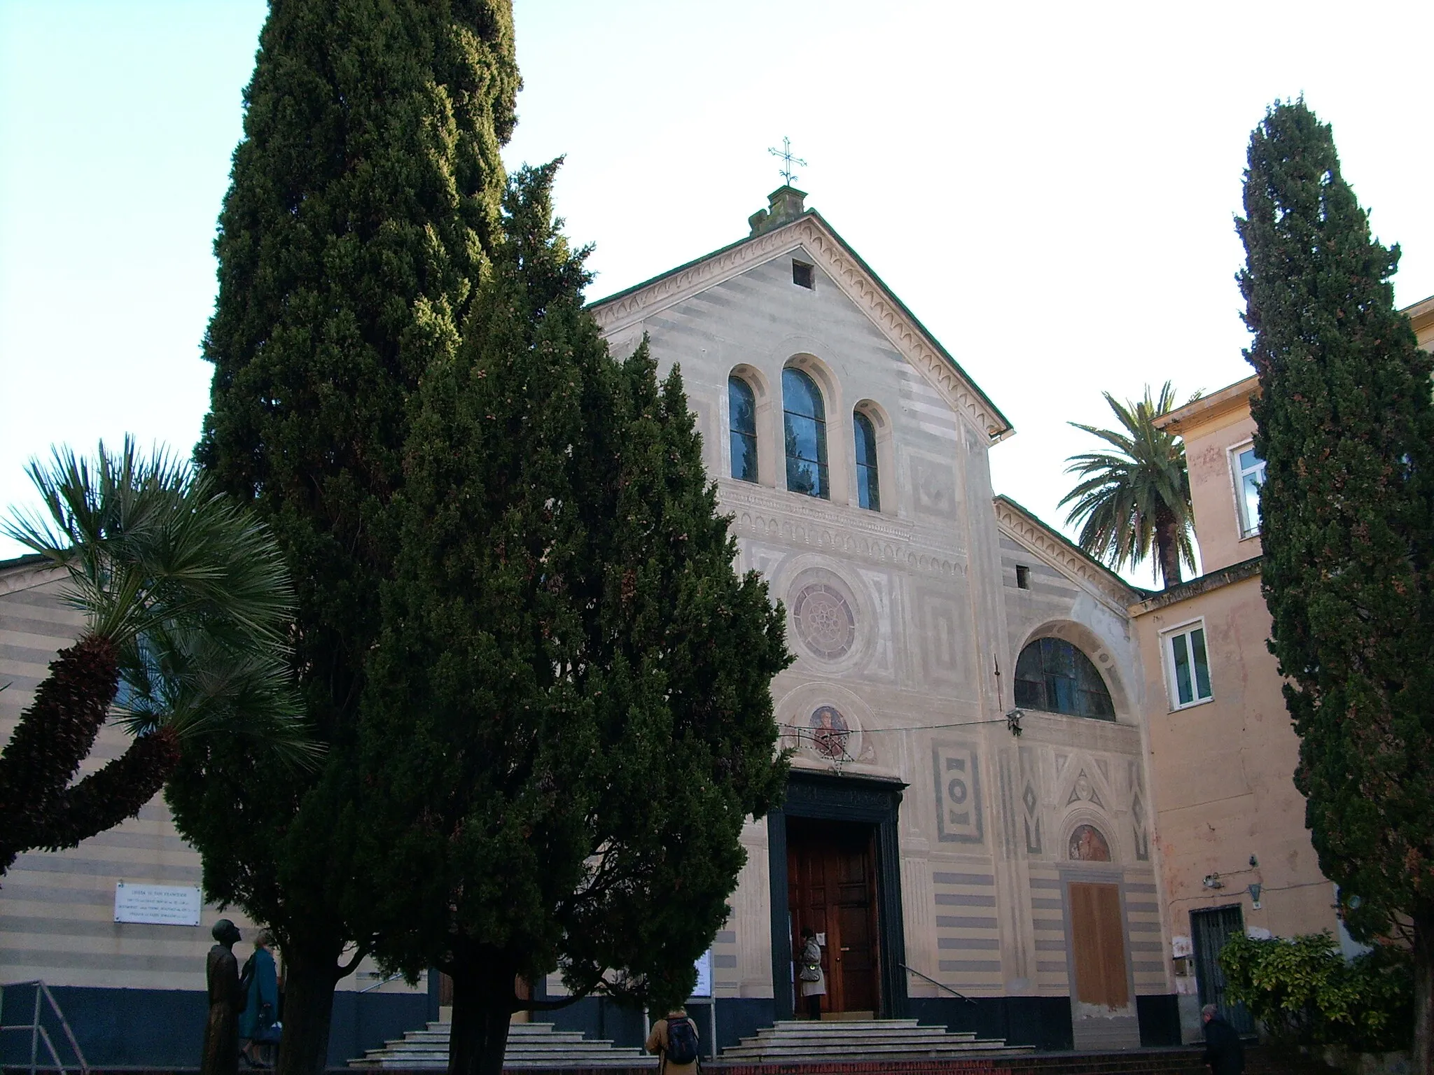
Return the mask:
[[[1434,297],[1404,311],[1434,345]],[[1163,914],[1187,1041],[1223,1003],[1225,937],[1328,929],[1349,947],[1292,774],[1299,757],[1260,593],[1255,377],[1159,419],[1184,440],[1203,575],[1130,606],[1144,669]],[[1240,1010],[1232,1022],[1249,1021]]]

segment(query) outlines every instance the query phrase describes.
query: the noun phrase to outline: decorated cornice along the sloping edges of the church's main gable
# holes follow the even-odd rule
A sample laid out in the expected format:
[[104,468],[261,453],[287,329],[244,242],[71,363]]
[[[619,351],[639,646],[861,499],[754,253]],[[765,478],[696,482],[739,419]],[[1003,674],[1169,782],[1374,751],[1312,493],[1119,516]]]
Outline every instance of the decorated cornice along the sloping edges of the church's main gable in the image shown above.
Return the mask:
[[806,251],[896,351],[931,381],[952,410],[965,416],[992,441],[1014,431],[1007,417],[946,348],[816,209],[807,209],[780,228],[740,239],[615,295],[599,298],[588,308],[605,335],[617,335],[652,314],[797,248]]

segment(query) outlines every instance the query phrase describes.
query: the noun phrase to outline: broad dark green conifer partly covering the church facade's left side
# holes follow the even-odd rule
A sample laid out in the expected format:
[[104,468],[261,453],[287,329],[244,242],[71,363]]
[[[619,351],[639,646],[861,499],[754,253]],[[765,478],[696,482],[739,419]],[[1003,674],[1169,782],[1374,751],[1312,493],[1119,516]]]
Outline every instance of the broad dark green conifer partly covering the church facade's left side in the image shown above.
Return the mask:
[[555,168],[515,178],[417,397],[350,814],[348,914],[386,966],[453,978],[455,1075],[496,1075],[545,1006],[516,978],[684,999],[786,773],[780,608],[733,570],[678,373],[615,361],[584,311]]

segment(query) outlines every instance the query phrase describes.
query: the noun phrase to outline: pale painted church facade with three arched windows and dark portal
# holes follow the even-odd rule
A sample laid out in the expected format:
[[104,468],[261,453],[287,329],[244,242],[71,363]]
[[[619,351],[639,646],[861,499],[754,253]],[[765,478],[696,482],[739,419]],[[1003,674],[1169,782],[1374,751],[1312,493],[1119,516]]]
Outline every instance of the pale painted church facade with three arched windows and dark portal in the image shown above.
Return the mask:
[[1139,595],[994,494],[1010,423],[802,198],[592,307],[614,353],[645,334],[681,367],[796,654],[773,682],[792,780],[744,834],[718,1019],[792,1018],[812,927],[825,1018],[1177,1043]]

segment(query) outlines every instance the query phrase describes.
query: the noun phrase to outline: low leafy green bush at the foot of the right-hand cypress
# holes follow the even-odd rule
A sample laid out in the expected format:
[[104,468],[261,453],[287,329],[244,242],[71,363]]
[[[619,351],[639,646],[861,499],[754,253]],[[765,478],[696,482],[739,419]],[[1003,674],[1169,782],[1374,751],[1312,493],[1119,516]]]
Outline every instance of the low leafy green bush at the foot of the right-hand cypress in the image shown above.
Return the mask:
[[1408,1049],[1414,1026],[1414,963],[1408,949],[1380,945],[1345,960],[1329,932],[1253,940],[1220,952],[1228,996],[1243,1003],[1276,1042],[1355,1052]]

